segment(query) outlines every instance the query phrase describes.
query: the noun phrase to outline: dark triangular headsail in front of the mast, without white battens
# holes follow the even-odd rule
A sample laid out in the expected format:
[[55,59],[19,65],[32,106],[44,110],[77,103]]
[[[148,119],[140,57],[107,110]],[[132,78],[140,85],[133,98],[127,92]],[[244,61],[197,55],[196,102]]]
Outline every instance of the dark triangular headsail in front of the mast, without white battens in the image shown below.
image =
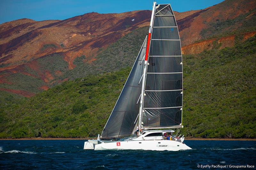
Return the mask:
[[146,39],[108,122],[101,133],[101,138],[128,136],[132,134],[134,127],[137,126],[145,51]]

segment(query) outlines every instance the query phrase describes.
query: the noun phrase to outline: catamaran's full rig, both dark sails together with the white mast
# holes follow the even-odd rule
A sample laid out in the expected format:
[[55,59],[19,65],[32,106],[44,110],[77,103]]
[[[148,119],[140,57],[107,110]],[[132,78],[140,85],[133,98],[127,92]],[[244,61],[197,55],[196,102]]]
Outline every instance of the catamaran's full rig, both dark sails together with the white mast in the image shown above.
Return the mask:
[[170,4],[154,2],[148,36],[101,138],[129,136],[137,122],[147,129],[182,127],[181,45]]

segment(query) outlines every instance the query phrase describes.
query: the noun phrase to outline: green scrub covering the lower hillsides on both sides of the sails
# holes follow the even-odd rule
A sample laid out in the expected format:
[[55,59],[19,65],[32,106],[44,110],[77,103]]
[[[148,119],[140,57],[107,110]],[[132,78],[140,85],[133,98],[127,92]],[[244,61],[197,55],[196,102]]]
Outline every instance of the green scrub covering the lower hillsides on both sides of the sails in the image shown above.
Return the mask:
[[[183,56],[182,133],[205,138],[255,138],[256,37],[236,41],[232,48],[218,48]],[[98,56],[103,62],[98,70],[112,62],[104,61],[104,56],[114,54],[104,50]],[[95,137],[101,133],[130,69],[66,81],[27,100],[4,99],[0,102],[0,137]]]

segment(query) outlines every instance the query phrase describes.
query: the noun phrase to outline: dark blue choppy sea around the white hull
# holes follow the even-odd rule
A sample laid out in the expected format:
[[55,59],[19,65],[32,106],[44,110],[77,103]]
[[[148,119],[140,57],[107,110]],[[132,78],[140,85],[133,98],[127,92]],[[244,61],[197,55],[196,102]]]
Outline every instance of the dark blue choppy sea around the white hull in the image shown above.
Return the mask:
[[0,169],[256,169],[256,141],[185,143],[193,150],[84,151],[83,140],[0,140]]

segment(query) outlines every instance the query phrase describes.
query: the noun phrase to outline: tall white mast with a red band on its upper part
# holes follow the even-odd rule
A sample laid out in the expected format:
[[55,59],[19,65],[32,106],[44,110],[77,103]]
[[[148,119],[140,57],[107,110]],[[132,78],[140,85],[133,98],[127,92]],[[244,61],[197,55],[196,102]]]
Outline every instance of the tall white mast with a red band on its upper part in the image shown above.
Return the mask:
[[151,32],[153,29],[153,20],[154,14],[156,10],[156,2],[153,3],[152,14],[150,19],[149,31],[148,31],[148,40],[147,40],[147,47],[146,47],[146,54],[145,54],[145,62],[144,62],[144,69],[143,69],[143,79],[142,79],[142,88],[141,88],[141,97],[140,97],[140,111],[139,111],[139,129],[141,128],[142,122],[142,112],[143,112],[143,99],[144,99],[144,88],[145,88],[145,78],[146,78],[146,70],[148,64],[148,54],[149,54],[149,46],[150,46],[150,39],[151,39]]

